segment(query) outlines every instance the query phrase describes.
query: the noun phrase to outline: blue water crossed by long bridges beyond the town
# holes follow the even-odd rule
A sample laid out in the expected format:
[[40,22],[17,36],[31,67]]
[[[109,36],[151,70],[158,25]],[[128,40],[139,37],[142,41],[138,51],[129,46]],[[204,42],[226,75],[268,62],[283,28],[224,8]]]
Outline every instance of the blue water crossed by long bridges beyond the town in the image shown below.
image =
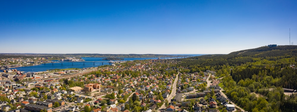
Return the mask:
[[[197,54],[195,55],[197,56]],[[66,68],[87,68],[87,67],[98,67],[102,65],[109,65],[109,60],[102,60],[105,57],[82,57],[83,60],[85,61],[105,61],[103,62],[63,62],[61,63],[58,60],[53,60],[57,61],[57,63],[45,63],[45,64],[40,64],[40,65],[35,65],[35,66],[26,66],[26,67],[16,67],[12,69],[17,69],[19,71],[24,71],[24,72],[40,72],[40,71],[46,71],[50,69],[66,69]],[[170,57],[160,57],[161,59],[170,59]],[[176,57],[171,57],[172,59],[175,59]],[[181,57],[178,57],[181,58]],[[184,58],[184,57],[183,57]],[[124,58],[126,61],[133,61],[133,60],[147,60],[147,59],[158,59],[158,58]]]

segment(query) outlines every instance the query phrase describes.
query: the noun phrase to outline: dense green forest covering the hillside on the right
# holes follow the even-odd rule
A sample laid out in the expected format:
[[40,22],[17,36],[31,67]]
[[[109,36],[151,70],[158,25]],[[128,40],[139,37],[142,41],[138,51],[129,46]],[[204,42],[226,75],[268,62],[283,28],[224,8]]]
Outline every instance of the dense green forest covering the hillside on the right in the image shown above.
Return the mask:
[[228,55],[203,55],[178,59],[181,72],[216,71],[228,97],[245,111],[297,110],[297,46],[259,47]]

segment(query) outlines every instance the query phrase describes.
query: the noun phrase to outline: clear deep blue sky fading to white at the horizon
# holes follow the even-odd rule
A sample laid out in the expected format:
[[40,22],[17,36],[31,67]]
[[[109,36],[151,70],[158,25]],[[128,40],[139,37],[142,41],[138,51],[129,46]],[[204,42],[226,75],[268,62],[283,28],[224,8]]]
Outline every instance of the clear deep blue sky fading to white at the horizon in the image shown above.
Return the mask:
[[289,45],[289,28],[297,45],[296,5],[296,0],[2,0],[0,53],[228,54]]

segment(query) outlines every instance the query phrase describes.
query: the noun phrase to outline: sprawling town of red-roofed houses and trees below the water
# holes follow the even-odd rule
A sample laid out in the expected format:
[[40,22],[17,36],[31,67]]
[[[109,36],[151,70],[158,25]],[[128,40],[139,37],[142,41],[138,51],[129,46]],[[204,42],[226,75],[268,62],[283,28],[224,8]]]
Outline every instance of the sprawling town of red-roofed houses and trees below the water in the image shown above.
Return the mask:
[[222,92],[215,71],[181,73],[184,67],[173,63],[157,59],[35,73],[3,70],[1,111],[244,111]]

